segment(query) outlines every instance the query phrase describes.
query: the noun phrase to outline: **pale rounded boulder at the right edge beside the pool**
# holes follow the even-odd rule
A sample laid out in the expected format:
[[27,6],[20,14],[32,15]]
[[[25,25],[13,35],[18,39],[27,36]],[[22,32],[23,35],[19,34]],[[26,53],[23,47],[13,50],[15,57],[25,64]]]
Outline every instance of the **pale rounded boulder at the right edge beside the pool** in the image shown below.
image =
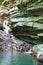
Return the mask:
[[38,60],[43,61],[43,44],[35,45],[32,51]]

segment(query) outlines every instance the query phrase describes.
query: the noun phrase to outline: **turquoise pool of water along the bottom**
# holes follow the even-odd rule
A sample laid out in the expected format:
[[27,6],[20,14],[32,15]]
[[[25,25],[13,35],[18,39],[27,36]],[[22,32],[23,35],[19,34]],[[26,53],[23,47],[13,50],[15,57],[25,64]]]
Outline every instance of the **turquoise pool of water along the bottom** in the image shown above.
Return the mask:
[[29,54],[16,51],[0,52],[0,65],[38,65]]

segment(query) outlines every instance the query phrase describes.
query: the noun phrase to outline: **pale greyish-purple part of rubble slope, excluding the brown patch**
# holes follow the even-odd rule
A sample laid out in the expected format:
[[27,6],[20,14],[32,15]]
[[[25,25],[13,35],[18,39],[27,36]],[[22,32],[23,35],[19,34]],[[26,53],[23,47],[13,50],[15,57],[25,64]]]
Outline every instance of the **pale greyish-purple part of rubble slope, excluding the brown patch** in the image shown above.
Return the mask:
[[6,34],[4,31],[0,30],[0,49],[15,49],[18,50],[19,46],[23,44],[21,41],[11,34]]

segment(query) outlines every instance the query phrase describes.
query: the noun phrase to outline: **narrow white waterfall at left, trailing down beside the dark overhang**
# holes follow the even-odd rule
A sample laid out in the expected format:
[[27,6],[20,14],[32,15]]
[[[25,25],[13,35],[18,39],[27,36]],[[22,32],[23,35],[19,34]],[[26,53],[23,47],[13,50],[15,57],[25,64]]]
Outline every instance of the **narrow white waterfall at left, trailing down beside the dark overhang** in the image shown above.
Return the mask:
[[[4,20],[3,21],[3,30],[4,30],[4,32],[6,34],[9,34],[9,31],[11,31],[10,27],[8,26],[8,22],[9,22],[8,20]],[[12,34],[9,34],[9,35],[10,35],[12,41],[15,42],[15,43],[17,43],[16,39],[15,39],[15,36],[13,36]]]

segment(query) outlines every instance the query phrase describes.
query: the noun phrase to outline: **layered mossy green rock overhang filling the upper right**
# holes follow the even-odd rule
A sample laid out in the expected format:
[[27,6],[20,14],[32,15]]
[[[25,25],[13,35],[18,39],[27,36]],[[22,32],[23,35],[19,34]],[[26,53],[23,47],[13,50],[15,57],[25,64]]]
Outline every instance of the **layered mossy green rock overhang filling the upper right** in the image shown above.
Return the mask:
[[[12,1],[15,0],[8,0],[8,2]],[[33,39],[42,39],[43,0],[17,0],[16,6],[19,10],[16,13],[12,13],[11,15],[12,18],[18,20],[18,22],[15,21],[16,23],[11,22],[11,28],[13,30],[14,35],[31,37]],[[19,25],[14,27],[16,24]]]

